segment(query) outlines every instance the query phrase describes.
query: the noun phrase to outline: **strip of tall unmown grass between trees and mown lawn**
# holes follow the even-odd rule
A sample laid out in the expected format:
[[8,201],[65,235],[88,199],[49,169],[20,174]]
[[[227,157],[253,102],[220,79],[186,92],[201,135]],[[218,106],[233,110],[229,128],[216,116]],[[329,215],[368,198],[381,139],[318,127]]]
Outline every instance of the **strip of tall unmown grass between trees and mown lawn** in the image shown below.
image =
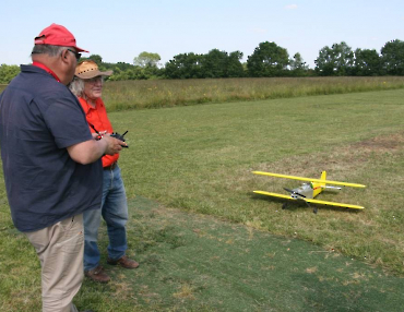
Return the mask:
[[261,77],[107,82],[109,111],[404,88],[403,76]]

